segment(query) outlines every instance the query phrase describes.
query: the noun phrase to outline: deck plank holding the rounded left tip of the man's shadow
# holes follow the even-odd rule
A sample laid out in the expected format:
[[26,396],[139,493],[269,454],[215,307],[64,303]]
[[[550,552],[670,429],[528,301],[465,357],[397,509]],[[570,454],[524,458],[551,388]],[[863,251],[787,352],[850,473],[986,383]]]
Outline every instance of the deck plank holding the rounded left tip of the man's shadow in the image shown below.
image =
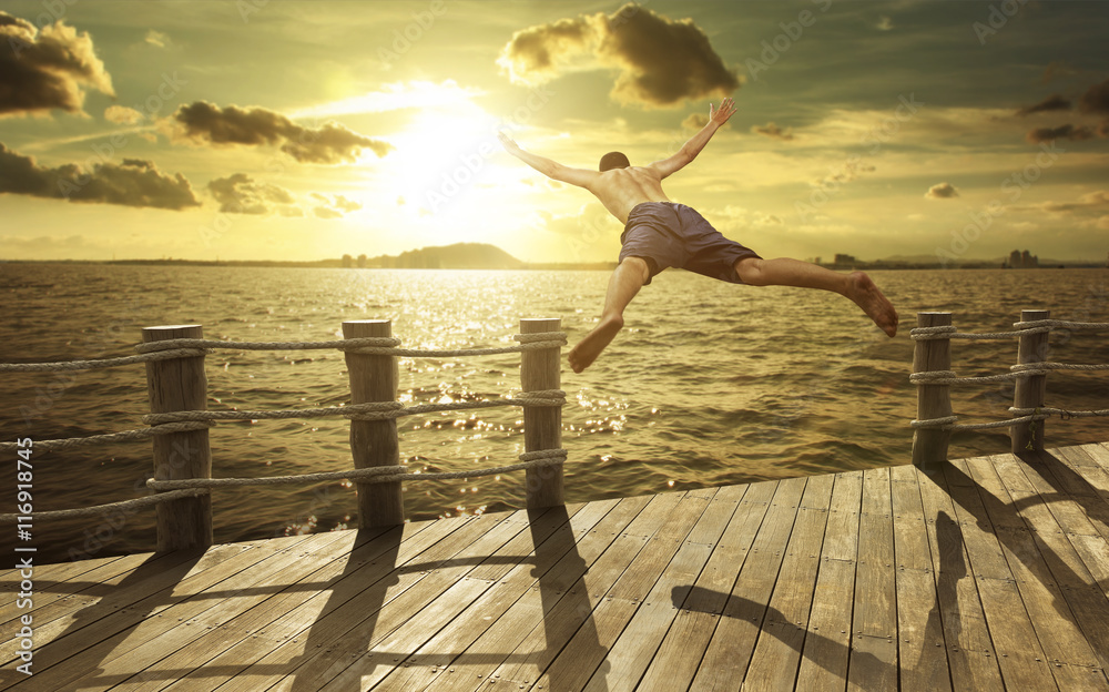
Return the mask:
[[[682,610],[648,668],[641,683],[644,690],[684,690],[696,674],[701,657],[709,647],[777,482],[763,481],[741,487],[745,493],[736,502],[720,541],[681,603]],[[728,488],[721,489],[714,501],[722,501],[720,498],[725,490]]]

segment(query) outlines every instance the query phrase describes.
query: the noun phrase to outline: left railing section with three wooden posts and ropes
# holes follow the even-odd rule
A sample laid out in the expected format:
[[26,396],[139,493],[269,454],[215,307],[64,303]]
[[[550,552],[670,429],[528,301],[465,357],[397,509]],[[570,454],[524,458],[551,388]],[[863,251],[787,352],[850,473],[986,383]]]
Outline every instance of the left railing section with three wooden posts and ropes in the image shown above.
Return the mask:
[[[145,343],[135,347],[135,350],[139,352],[135,356],[61,363],[0,364],[0,372],[75,370],[108,368],[123,365],[134,365],[138,363],[146,364],[147,378],[151,383],[151,408],[153,413],[143,416],[142,421],[151,427],[103,435],[92,435],[88,437],[35,440],[35,450],[51,451],[73,447],[146,440],[162,436],[181,437],[203,435],[203,438],[191,438],[191,440],[201,446],[201,450],[203,451],[203,455],[201,456],[204,457],[201,459],[199,467],[190,469],[190,472],[193,472],[193,477],[180,478],[181,469],[179,468],[177,472],[174,474],[179,476],[179,478],[165,479],[162,477],[167,475],[166,469],[171,468],[166,465],[169,459],[166,449],[169,446],[163,446],[160,458],[159,446],[155,445],[155,474],[154,478],[146,481],[146,487],[153,490],[155,495],[94,507],[38,511],[28,516],[0,515],[0,523],[12,523],[28,518],[32,520],[49,520],[101,516],[120,511],[134,511],[156,506],[159,508],[159,550],[173,550],[211,545],[211,505],[205,503],[200,506],[202,511],[206,513],[206,517],[202,521],[202,523],[206,523],[206,526],[192,527],[190,530],[183,531],[184,533],[189,533],[189,536],[185,536],[184,538],[163,535],[163,510],[165,510],[164,513],[166,516],[174,512],[174,519],[172,521],[166,520],[164,522],[167,527],[177,526],[174,522],[182,521],[182,517],[185,517],[186,522],[192,522],[194,521],[192,515],[195,515],[195,508],[197,507],[195,502],[210,502],[207,493],[212,488],[313,484],[339,479],[353,480],[358,486],[359,527],[364,527],[373,525],[373,520],[367,520],[365,513],[367,506],[373,506],[375,502],[372,502],[362,496],[364,490],[368,490],[373,486],[384,487],[386,484],[394,484],[396,499],[399,501],[400,481],[477,478],[519,470],[526,470],[528,472],[527,496],[529,507],[533,505],[535,498],[537,498],[540,492],[546,492],[548,500],[550,498],[554,498],[558,503],[561,503],[561,465],[567,459],[567,450],[561,447],[561,436],[559,431],[561,427],[560,411],[561,407],[566,405],[566,391],[558,388],[558,369],[560,363],[559,352],[567,343],[567,335],[566,333],[558,330],[559,320],[522,320],[521,327],[525,329],[525,333],[513,335],[512,337],[516,342],[518,342],[517,345],[494,348],[398,348],[400,339],[394,338],[389,334],[391,327],[388,322],[384,320],[357,320],[344,323],[344,334],[347,334],[348,327],[350,327],[352,332],[365,333],[366,330],[369,330],[370,333],[379,333],[383,325],[385,332],[384,335],[375,334],[373,336],[349,336],[348,338],[342,340],[329,342],[226,342],[200,338],[201,328],[195,325],[182,327],[151,327],[143,330],[144,338],[147,336],[150,338],[146,339]],[[554,328],[541,328],[550,326],[553,326]],[[347,358],[354,401],[345,406],[318,408],[205,410],[204,404],[206,395],[203,391],[203,383],[205,381],[203,376],[203,358],[207,354],[213,353],[213,349],[216,348],[242,350],[336,349],[344,352],[345,357]],[[396,372],[395,358],[397,357],[466,357],[508,353],[521,354],[521,380],[523,383],[523,391],[515,396],[506,396],[500,399],[480,401],[449,401],[420,404],[414,406],[405,406],[403,403],[395,400],[396,387],[394,374]],[[535,354],[535,356],[531,354]],[[381,360],[383,357],[385,360]],[[354,360],[352,360],[352,358],[354,358]],[[541,363],[536,358],[539,358]],[[172,377],[161,378],[160,368],[164,367],[164,365],[171,360],[176,360],[180,364],[181,369],[174,372]],[[537,364],[541,365],[545,372],[537,372]],[[385,379],[389,379],[394,383],[391,394],[387,395],[391,396],[393,400],[365,400],[367,391],[366,387],[368,386],[373,389],[375,386],[380,385],[380,380]],[[539,381],[553,384],[554,386],[536,386],[536,383]],[[201,385],[200,391],[195,390],[197,383]],[[192,390],[189,390],[191,385]],[[179,391],[179,389],[185,389],[187,391],[182,393]],[[155,390],[157,408],[162,410],[155,410]],[[362,394],[358,394],[359,391]],[[359,397],[363,400],[358,400]],[[373,399],[374,397],[372,396],[370,398]],[[192,405],[190,405],[190,403]],[[366,466],[363,464],[359,467],[359,459],[365,462],[366,455],[364,448],[355,447],[355,440],[356,437],[358,437],[355,434],[355,426],[370,426],[368,428],[358,428],[359,435],[365,435],[367,431],[374,432],[383,430],[373,426],[389,425],[393,436],[393,447],[395,448],[397,436],[395,421],[400,417],[438,411],[470,410],[501,406],[518,406],[525,410],[525,444],[528,450],[519,455],[519,464],[466,469],[461,471],[423,472],[411,471],[408,466],[400,464],[381,464],[379,459],[378,461],[373,461],[373,459],[370,459],[370,465]],[[545,409],[553,410],[554,417],[543,419],[537,418],[536,420],[532,420],[532,425],[529,426],[529,419],[532,418],[532,416],[528,411]],[[211,465],[211,451],[207,445],[207,428],[213,427],[215,421],[254,421],[264,419],[326,417],[346,418],[352,421],[352,449],[355,452],[356,468],[342,471],[262,478],[208,478],[206,477],[206,471],[201,476],[195,475],[197,468],[204,469]],[[529,436],[529,427],[533,427],[536,421],[539,421],[541,424],[539,427],[543,428],[546,431],[540,430],[541,435],[538,437],[536,435]],[[551,428],[550,421],[556,424],[553,428]],[[379,439],[378,441],[380,442],[381,440]],[[387,442],[388,440],[386,439],[385,441]],[[363,440],[362,444],[365,445],[366,440]],[[11,451],[17,447],[16,442],[0,442],[0,452]],[[388,447],[388,444],[383,446],[380,444],[370,442],[368,449],[372,454],[376,454],[376,451],[385,448],[387,452]],[[204,459],[208,459],[208,461],[205,464]],[[554,467],[558,468],[554,469]],[[554,470],[552,471],[552,469]],[[551,474],[556,471],[557,475],[553,478],[557,480],[557,488],[551,490],[551,488],[553,488],[553,486],[551,486],[552,481],[550,480],[552,478]],[[539,472],[541,472],[539,476],[532,478],[533,474]],[[391,492],[389,489],[386,490]],[[374,492],[376,493],[374,495],[375,498],[379,499],[385,497],[377,491]],[[185,505],[182,505],[183,502]],[[385,517],[388,519],[387,515],[383,515],[380,512],[378,512],[378,517]],[[391,522],[396,523],[398,521],[397,515],[394,512],[391,517]],[[399,515],[399,520],[403,521],[403,513]],[[165,531],[165,533],[169,533],[169,531]]]

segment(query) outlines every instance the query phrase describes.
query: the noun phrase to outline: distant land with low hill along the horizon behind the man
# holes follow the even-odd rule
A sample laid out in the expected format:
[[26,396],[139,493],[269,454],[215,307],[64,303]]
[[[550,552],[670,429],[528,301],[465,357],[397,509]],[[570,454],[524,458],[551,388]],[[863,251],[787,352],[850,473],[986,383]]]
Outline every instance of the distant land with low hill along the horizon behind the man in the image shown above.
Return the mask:
[[[837,269],[997,269],[997,268],[1088,268],[1105,267],[1109,263],[1090,261],[1040,260],[1024,252],[1014,251],[1008,257],[996,260],[944,261],[935,255],[894,255],[884,260],[864,261],[853,255],[836,254],[831,262],[821,257],[808,257],[808,262]],[[74,263],[74,264],[124,264],[124,265],[175,265],[175,266],[238,266],[238,267],[303,267],[303,268],[353,268],[353,269],[588,269],[612,271],[615,262],[523,262],[517,260],[496,245],[488,243],[455,243],[409,250],[399,255],[366,254],[343,255],[334,260],[293,262],[283,260],[10,260],[20,263]]]

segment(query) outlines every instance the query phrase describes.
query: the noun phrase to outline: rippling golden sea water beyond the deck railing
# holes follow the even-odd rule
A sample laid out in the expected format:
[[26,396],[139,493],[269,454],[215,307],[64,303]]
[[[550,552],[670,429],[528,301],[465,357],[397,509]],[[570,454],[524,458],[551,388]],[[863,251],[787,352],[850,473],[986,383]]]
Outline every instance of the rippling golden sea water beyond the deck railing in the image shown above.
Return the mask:
[[[947,271],[872,274],[902,315],[889,339],[832,294],[731,286],[667,272],[627,313],[625,333],[562,385],[567,500],[905,464],[916,396],[908,384],[917,311],[946,309],[967,330],[1008,328],[1021,308],[1109,320],[1109,271]],[[129,355],[140,329],[201,324],[210,338],[326,340],[345,319],[389,318],[413,348],[512,343],[520,317],[560,317],[576,343],[596,322],[601,272],[449,272],[0,264],[0,362]],[[1109,363],[1109,336],[1052,334],[1051,358]],[[962,375],[1007,369],[1014,342],[956,342]],[[563,360],[564,364],[564,360]],[[337,406],[348,400],[338,352],[220,350],[207,358],[210,409]],[[144,368],[72,375],[4,374],[3,439],[78,437],[142,427]],[[519,391],[519,356],[400,359],[409,404]],[[1052,373],[1048,405],[1106,408],[1105,376]],[[1007,417],[1011,385],[956,391],[965,420]],[[241,477],[350,468],[342,419],[222,423],[213,475]],[[427,471],[512,462],[522,451],[518,409],[401,418],[401,459]],[[1048,421],[1048,444],[1109,440],[1109,420]],[[1004,431],[959,434],[952,456],[1008,450]],[[34,509],[142,495],[149,442],[37,454]],[[6,465],[13,468],[13,465]],[[14,474],[0,487],[13,511]],[[520,507],[522,476],[407,484],[407,516],[424,519]],[[356,523],[349,482],[217,490],[220,542]],[[0,543],[7,537],[0,539]],[[40,561],[152,550],[153,511],[125,521],[35,526]]]

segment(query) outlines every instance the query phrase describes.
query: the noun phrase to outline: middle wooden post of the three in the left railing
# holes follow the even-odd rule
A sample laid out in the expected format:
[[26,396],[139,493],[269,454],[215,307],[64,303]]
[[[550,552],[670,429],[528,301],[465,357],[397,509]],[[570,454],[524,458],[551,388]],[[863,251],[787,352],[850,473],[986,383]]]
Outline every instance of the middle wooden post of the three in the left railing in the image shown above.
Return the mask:
[[[343,338],[393,336],[388,319],[354,319],[343,323]],[[350,403],[395,401],[397,399],[396,356],[346,353],[350,376]],[[397,420],[352,420],[350,454],[356,469],[400,464]],[[358,528],[404,523],[405,506],[400,481],[357,484]]]

